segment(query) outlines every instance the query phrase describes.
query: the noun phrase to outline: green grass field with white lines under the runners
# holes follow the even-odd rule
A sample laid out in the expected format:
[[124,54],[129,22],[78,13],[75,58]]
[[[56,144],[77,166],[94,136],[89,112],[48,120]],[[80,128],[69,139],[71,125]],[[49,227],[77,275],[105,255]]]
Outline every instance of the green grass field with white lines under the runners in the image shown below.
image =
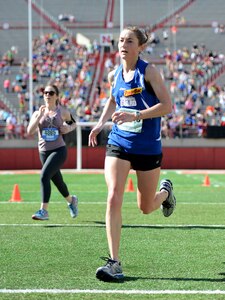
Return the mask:
[[[125,192],[122,283],[95,278],[108,255],[103,174],[64,172],[79,197],[71,219],[55,187],[50,220],[33,221],[40,206],[39,174],[0,174],[0,299],[225,299],[225,174],[162,171],[174,183],[177,208],[142,215]],[[136,189],[136,178],[130,174]],[[18,184],[22,201],[9,202]]]

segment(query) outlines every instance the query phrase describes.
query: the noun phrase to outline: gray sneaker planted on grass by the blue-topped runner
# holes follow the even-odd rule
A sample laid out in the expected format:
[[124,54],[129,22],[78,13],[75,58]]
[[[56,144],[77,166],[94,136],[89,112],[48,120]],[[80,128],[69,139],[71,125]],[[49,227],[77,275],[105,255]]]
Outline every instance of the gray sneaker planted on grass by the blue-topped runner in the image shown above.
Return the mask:
[[106,265],[96,270],[96,277],[102,281],[123,280],[124,275],[121,263],[108,257],[102,257],[106,260]]

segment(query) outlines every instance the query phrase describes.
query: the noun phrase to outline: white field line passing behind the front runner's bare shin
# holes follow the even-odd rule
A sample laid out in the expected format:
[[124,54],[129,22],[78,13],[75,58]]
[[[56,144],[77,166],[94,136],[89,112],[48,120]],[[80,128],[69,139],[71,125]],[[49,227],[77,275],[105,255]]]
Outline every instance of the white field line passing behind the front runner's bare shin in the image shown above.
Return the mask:
[[[105,224],[63,224],[63,223],[21,223],[21,224],[6,224],[6,223],[0,223],[0,227],[105,227]],[[215,228],[215,229],[222,229],[225,228],[225,225],[222,224],[123,224],[123,227],[149,227],[149,228],[196,228],[196,229],[201,229],[201,228]]]

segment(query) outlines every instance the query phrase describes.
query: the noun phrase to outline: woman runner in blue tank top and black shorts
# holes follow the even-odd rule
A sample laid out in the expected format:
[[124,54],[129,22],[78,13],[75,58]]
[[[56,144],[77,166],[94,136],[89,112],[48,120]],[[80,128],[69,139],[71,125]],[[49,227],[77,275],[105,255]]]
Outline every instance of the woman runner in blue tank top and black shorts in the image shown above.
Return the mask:
[[100,280],[123,279],[119,261],[122,227],[122,202],[127,176],[136,170],[137,203],[144,214],[163,207],[164,216],[172,214],[176,199],[170,180],[160,183],[162,160],[161,116],[172,110],[172,103],[159,71],[140,59],[148,35],[137,27],[125,28],[119,38],[122,64],[109,73],[109,99],[103,113],[89,135],[89,145],[97,144],[97,135],[104,124],[114,122],[108,137],[105,158],[105,178],[108,187],[106,231],[110,257],[96,271]]

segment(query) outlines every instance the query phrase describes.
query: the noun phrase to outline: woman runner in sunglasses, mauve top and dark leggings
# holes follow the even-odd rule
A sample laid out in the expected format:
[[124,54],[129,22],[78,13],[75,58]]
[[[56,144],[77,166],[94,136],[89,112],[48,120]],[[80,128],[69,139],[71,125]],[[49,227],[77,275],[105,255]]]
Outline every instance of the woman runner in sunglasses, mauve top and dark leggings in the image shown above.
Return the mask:
[[75,129],[76,122],[69,110],[61,107],[59,103],[59,90],[55,85],[47,85],[44,89],[45,104],[35,111],[27,128],[32,135],[38,131],[39,154],[42,163],[41,170],[41,208],[34,215],[33,220],[48,220],[48,205],[51,196],[51,181],[55,184],[61,195],[68,202],[71,217],[78,214],[78,199],[69,194],[67,185],[63,181],[60,168],[67,157],[67,149],[63,134]]

